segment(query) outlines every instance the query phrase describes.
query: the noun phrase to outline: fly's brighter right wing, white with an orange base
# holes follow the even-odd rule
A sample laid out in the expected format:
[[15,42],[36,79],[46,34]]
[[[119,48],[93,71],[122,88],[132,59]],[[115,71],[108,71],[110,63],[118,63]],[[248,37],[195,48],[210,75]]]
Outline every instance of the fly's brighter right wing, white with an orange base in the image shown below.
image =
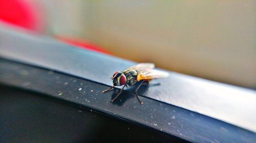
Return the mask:
[[166,78],[168,76],[169,76],[168,72],[153,69],[150,71],[139,72],[137,76],[137,81],[140,81],[143,79],[151,80],[155,78]]

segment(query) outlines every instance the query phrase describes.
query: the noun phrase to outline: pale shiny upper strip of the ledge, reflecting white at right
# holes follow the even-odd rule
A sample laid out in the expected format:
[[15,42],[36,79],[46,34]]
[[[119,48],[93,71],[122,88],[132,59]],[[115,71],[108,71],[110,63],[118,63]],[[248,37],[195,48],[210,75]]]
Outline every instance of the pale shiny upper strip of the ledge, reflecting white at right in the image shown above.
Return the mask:
[[[0,28],[0,56],[112,85],[110,77],[136,63],[71,47],[46,37]],[[169,72],[166,79],[140,89],[139,95],[192,110],[256,132],[256,92]],[[154,84],[154,83],[153,83]],[[126,89],[125,89],[126,90]],[[134,93],[134,89],[127,89]]]

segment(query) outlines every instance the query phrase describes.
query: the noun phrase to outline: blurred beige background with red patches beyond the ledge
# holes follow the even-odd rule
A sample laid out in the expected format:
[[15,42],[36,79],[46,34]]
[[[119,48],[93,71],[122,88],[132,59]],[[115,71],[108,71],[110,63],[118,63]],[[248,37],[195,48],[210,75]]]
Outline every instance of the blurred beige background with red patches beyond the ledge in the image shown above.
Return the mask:
[[255,22],[255,1],[0,1],[2,26],[253,89]]

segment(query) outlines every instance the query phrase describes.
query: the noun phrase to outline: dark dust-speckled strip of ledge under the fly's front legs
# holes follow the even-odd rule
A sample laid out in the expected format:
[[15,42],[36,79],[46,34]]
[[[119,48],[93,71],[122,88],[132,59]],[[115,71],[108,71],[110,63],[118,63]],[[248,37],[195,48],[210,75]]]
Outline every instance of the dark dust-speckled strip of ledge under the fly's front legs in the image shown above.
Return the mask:
[[[190,141],[256,140],[255,133],[177,106],[145,97],[141,97],[144,104],[140,105],[134,94],[129,92],[124,92],[117,102],[111,103],[118,90],[102,94],[101,91],[108,86],[100,83],[3,59],[0,60],[0,69],[0,82],[3,84],[44,93]],[[143,85],[141,92],[146,86]]]

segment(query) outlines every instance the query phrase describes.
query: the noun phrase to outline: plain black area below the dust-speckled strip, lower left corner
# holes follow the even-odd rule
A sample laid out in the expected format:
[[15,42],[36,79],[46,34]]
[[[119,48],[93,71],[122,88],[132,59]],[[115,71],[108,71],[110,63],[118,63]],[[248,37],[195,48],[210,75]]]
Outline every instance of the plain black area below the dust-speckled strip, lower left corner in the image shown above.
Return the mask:
[[185,142],[59,102],[45,95],[1,87],[0,142]]

